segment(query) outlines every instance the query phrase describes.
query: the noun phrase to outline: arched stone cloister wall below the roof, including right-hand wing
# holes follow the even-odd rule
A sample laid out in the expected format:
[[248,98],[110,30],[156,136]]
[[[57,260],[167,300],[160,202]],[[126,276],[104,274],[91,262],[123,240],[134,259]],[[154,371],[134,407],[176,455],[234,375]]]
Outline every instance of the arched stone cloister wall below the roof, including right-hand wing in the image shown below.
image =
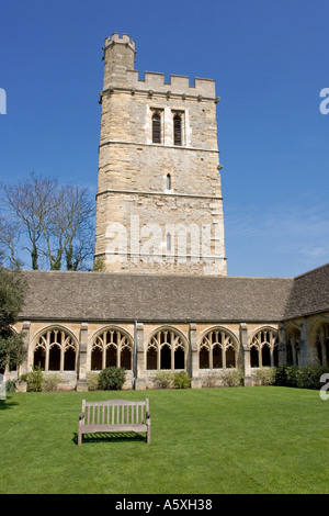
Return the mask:
[[[220,371],[229,368],[241,368],[245,378],[251,378],[257,368],[284,363],[329,366],[329,318],[314,317],[307,325],[297,319],[245,326],[243,336],[242,324],[139,323],[136,327],[25,323],[27,360],[20,369],[29,371],[38,366],[46,373],[59,372],[78,381],[89,371],[123,367],[127,388],[133,378],[147,388],[160,370],[186,370],[192,379],[202,380],[209,372],[220,378]],[[35,327],[38,329],[33,332]]]

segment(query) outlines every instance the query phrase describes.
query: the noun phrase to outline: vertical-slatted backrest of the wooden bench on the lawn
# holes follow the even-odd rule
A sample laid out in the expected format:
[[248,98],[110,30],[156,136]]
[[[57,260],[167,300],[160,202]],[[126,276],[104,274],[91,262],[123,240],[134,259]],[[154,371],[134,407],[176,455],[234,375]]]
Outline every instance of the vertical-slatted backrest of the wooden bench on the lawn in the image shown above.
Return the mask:
[[148,411],[148,400],[141,402],[126,400],[82,401],[84,425],[140,425],[146,423],[146,412]]

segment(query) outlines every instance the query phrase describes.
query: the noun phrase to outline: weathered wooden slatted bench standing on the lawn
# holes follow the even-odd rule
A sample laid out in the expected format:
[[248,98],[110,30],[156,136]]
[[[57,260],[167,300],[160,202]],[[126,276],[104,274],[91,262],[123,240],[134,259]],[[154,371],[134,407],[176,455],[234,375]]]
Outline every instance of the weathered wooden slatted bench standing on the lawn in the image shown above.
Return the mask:
[[150,442],[149,401],[132,402],[109,400],[105,402],[82,401],[79,416],[78,446],[83,434],[99,431],[146,431],[146,442]]

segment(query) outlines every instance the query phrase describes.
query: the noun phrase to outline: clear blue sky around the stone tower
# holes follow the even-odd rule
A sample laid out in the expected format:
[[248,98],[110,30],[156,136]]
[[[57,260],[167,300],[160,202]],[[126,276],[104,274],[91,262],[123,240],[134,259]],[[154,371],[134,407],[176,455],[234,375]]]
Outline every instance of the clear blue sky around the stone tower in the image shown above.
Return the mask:
[[329,261],[328,0],[16,0],[0,8],[0,181],[32,170],[97,189],[102,46],[216,80],[229,276]]

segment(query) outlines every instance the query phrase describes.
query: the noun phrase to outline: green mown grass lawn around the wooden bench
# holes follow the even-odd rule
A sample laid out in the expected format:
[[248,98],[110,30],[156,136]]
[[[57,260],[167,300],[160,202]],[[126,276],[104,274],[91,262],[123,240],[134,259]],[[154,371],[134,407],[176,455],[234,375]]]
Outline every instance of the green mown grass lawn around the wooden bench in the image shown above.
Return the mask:
[[[151,444],[86,438],[83,397],[150,400]],[[287,388],[8,394],[0,493],[329,493],[329,401]]]

